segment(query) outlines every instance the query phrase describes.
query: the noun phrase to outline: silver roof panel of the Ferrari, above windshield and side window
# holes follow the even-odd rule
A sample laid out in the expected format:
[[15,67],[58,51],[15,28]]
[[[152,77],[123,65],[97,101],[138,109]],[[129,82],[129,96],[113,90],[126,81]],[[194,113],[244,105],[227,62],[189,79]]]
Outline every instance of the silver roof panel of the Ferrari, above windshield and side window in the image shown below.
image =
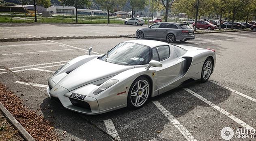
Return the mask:
[[129,40],[129,41],[125,41],[125,42],[133,42],[133,43],[137,43],[137,44],[142,44],[145,46],[149,46],[151,48],[154,48],[156,46],[170,45],[166,42],[161,42],[161,41],[156,41],[156,40]]

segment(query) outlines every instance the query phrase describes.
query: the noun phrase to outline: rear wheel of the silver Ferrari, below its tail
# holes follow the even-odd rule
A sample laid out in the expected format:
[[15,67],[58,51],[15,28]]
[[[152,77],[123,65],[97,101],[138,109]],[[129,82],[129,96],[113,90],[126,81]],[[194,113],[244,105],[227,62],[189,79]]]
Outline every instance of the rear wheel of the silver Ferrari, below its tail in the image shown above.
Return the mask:
[[204,65],[202,67],[202,72],[201,72],[201,82],[207,82],[207,80],[211,76],[211,72],[213,70],[213,61],[211,58],[207,58],[204,61]]

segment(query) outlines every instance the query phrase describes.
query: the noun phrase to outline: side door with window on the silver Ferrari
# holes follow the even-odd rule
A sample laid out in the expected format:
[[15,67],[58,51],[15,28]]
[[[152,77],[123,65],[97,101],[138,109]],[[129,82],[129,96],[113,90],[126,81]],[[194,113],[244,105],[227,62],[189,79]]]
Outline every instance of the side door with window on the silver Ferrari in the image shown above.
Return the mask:
[[176,87],[177,84],[172,83],[182,75],[185,59],[178,58],[174,50],[168,45],[152,48],[152,55],[153,60],[160,61],[163,64],[162,67],[154,67],[159,93],[164,93]]

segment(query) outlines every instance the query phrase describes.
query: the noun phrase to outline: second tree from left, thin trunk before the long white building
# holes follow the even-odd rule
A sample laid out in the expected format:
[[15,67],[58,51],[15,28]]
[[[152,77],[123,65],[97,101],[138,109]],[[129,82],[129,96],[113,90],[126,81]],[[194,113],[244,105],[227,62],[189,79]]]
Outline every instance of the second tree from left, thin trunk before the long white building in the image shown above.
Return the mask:
[[75,22],[77,23],[77,9],[84,8],[84,6],[89,6],[89,0],[59,0],[65,6],[74,6],[75,7]]

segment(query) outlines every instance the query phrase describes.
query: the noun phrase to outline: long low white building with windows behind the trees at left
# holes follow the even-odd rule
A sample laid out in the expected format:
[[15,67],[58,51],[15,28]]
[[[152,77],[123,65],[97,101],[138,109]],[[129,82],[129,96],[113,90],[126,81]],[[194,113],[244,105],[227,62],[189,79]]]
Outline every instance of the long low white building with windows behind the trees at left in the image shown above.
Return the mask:
[[[47,11],[50,11],[50,13],[52,14],[75,14],[75,7],[53,5],[47,8]],[[108,15],[107,11],[93,10],[93,9],[77,9],[77,14],[100,15],[100,16]]]

